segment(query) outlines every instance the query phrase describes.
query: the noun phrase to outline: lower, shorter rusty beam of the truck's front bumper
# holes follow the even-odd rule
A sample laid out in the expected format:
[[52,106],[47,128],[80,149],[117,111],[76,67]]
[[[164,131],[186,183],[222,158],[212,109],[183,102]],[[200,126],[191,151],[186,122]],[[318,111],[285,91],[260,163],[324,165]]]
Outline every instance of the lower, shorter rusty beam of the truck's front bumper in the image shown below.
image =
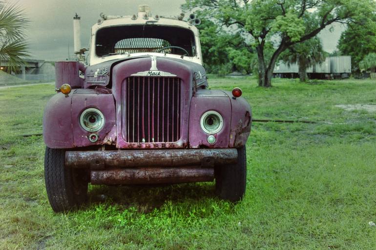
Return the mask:
[[173,184],[214,180],[214,168],[141,168],[91,171],[94,185]]

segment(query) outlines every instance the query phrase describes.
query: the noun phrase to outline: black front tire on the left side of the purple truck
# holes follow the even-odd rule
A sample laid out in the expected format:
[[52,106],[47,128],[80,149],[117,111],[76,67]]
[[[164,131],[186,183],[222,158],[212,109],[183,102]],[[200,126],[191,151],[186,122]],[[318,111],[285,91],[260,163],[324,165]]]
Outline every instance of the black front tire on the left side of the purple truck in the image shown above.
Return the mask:
[[50,205],[55,212],[68,211],[87,198],[87,179],[83,170],[66,168],[65,150],[46,147],[44,180]]

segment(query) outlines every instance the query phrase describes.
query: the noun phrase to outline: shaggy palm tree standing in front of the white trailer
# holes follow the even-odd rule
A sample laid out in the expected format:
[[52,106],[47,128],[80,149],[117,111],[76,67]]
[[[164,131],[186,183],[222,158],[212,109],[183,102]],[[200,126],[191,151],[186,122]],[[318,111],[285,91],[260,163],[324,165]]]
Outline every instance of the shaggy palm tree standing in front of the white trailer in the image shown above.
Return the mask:
[[281,59],[288,65],[297,63],[300,81],[307,80],[307,69],[325,61],[326,52],[322,49],[321,40],[317,37],[289,47],[281,54]]

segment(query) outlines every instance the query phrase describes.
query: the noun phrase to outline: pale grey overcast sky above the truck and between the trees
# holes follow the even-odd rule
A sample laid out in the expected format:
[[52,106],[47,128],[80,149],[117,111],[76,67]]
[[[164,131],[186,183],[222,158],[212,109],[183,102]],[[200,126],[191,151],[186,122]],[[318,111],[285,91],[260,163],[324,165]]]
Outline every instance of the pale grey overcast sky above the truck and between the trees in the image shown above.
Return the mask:
[[[139,4],[149,4],[153,15],[178,15],[185,0],[9,0],[17,2],[31,20],[28,41],[32,57],[44,60],[61,60],[73,53],[73,16],[81,16],[81,44],[88,47],[90,27],[107,15],[133,15]],[[320,36],[324,49],[335,50],[337,39],[343,28],[333,33],[323,32]]]

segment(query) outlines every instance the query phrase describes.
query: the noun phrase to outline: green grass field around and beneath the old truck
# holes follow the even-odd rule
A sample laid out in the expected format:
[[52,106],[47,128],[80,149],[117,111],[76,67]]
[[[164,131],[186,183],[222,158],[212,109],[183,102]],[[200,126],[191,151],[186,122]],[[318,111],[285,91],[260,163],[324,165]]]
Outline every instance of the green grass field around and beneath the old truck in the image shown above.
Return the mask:
[[90,187],[76,212],[52,212],[43,177],[42,112],[53,85],[0,90],[0,249],[35,250],[375,250],[376,105],[372,80],[210,78],[243,89],[252,124],[247,192],[233,205],[213,183]]

